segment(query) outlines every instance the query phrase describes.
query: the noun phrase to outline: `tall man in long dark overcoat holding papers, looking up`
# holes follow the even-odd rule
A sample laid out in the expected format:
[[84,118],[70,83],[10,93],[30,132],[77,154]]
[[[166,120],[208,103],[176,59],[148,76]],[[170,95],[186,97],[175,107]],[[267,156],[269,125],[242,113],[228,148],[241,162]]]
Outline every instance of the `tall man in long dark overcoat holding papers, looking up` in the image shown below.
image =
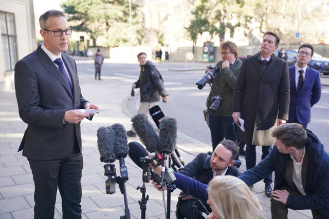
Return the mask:
[[[288,65],[278,58],[280,38],[276,33],[266,32],[261,51],[244,59],[237,74],[234,88],[233,120],[244,120],[245,132],[240,132],[246,147],[247,169],[256,164],[257,145],[262,147],[262,160],[273,144],[272,130],[286,123],[289,110]],[[264,178],[265,194],[272,193],[272,174]]]

